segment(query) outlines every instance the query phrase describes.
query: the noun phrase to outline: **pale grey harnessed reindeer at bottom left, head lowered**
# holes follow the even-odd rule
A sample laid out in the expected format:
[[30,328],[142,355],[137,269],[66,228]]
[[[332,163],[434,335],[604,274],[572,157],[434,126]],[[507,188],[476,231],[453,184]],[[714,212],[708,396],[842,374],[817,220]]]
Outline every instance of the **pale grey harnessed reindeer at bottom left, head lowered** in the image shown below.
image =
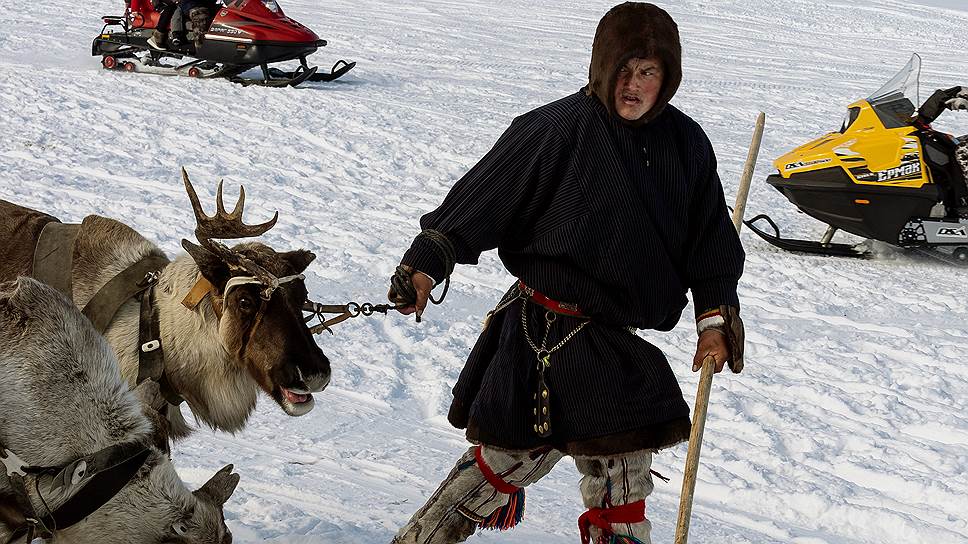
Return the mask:
[[189,491],[143,409],[70,300],[30,278],[0,283],[0,542],[231,543],[222,506],[238,474]]

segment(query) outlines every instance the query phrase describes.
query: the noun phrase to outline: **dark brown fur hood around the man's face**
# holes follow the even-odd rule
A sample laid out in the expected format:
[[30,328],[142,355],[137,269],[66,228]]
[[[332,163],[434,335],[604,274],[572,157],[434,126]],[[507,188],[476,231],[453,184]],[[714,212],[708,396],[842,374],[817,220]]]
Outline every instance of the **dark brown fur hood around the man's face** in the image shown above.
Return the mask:
[[[618,70],[634,57],[662,60],[662,90],[655,105],[641,119],[625,121],[615,112],[612,98]],[[610,9],[598,23],[588,67],[589,95],[595,95],[608,112],[626,124],[642,126],[662,113],[682,81],[682,47],[679,28],[662,8],[642,2],[625,2]]]

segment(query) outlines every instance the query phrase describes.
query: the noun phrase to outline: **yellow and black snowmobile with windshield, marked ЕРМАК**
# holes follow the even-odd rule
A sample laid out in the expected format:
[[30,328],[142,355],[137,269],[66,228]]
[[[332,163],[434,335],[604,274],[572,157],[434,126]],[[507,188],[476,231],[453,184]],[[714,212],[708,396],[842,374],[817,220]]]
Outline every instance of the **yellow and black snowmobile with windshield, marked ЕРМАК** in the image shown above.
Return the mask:
[[[841,129],[783,155],[767,178],[790,202],[829,225],[819,242],[791,240],[766,215],[746,222],[771,244],[824,255],[869,255],[831,243],[837,230],[905,248],[948,246],[968,261],[968,137],[935,131],[944,109],[968,108],[968,88],[938,91],[918,111],[921,59],[911,58],[891,81],[849,106]],[[767,233],[756,223],[766,221]],[[948,260],[947,252],[931,252]]]

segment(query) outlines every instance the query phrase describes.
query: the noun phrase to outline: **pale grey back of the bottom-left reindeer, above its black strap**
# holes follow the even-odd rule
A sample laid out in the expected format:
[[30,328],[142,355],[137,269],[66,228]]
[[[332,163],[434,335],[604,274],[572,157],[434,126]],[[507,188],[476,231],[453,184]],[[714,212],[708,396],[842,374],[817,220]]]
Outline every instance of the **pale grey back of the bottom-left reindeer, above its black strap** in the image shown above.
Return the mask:
[[151,432],[104,337],[29,278],[0,284],[0,407],[0,440],[38,466]]

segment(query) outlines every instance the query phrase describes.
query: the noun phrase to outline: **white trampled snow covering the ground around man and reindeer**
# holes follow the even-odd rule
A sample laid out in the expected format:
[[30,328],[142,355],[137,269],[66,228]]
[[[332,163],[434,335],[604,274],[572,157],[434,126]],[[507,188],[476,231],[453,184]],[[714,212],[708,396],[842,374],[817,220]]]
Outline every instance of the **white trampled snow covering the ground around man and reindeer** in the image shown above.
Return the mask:
[[[266,239],[318,255],[326,303],[379,301],[417,218],[511,119],[584,83],[602,0],[287,0],[359,66],[298,89],[105,72],[89,56],[120,0],[24,3],[0,18],[0,198],[80,220],[122,219],[170,254],[190,237],[184,165],[203,194],[249,191]],[[752,123],[767,131],[749,212],[823,227],[762,182],[782,152],[839,126],[847,103],[924,58],[922,99],[968,84],[968,13],[895,0],[679,0],[685,79],[674,103],[706,128],[731,198]],[[950,2],[957,8],[962,2]],[[943,18],[939,18],[943,17]],[[69,26],[65,26],[65,21]],[[968,133],[968,114],[941,126]],[[744,232],[747,370],[713,385],[692,524],[696,543],[968,542],[968,273],[892,251],[875,261],[783,253]],[[483,313],[510,278],[494,255],[459,267],[416,325],[358,319],[319,337],[334,364],[316,409],[262,402],[237,435],[202,430],[174,452],[200,484],[225,463],[235,541],[388,542],[465,448],[444,414]],[[688,400],[691,312],[645,333]],[[685,446],[657,457],[654,539],[671,542]],[[577,472],[529,489],[526,523],[474,542],[577,540]]]

